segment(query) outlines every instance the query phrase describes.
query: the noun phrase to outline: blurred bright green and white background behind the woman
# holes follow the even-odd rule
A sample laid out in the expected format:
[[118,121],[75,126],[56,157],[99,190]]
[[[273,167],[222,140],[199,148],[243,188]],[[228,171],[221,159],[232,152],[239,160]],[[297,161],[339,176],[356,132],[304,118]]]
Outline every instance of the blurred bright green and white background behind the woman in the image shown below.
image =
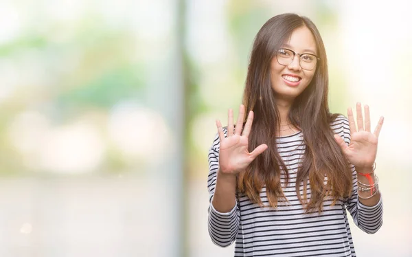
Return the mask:
[[[207,149],[238,109],[253,38],[308,16],[330,108],[380,115],[384,225],[358,256],[412,256],[407,1],[3,0],[0,256],[233,256],[207,232]],[[237,112],[237,111],[235,111]]]

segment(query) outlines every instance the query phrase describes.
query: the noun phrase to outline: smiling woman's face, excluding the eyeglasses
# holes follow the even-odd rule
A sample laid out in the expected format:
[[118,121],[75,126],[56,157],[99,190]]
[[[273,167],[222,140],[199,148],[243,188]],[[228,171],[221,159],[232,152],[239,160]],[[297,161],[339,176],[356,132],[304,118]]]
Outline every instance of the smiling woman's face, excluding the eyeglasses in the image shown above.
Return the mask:
[[[317,45],[307,27],[298,27],[294,30],[290,40],[284,43],[281,48],[290,49],[298,54],[314,54],[317,56]],[[295,55],[292,63],[281,65],[276,56],[273,56],[271,60],[271,84],[278,100],[293,101],[308,87],[312,80],[316,66],[312,70],[302,69],[299,63],[300,59],[298,55]],[[304,63],[304,60],[302,60],[302,63]]]

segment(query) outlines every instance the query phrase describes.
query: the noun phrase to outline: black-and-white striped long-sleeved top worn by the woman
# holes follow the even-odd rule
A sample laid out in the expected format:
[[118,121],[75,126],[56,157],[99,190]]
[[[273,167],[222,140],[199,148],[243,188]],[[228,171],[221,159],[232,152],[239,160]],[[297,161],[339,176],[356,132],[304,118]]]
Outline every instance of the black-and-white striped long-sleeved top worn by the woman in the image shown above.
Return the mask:
[[[340,115],[332,124],[335,133],[350,143],[347,118]],[[224,130],[225,135],[227,129]],[[347,211],[354,223],[368,234],[382,225],[382,199],[375,206],[358,201],[356,171],[352,165],[353,190],[347,199],[323,201],[323,212],[305,214],[295,192],[297,168],[304,157],[302,132],[277,138],[279,154],[288,167],[290,179],[284,188],[288,205],[274,209],[261,208],[251,203],[245,194],[237,194],[235,207],[227,213],[214,209],[211,200],[216,186],[219,161],[219,137],[216,135],[209,149],[209,235],[221,247],[236,241],[234,256],[356,256]],[[284,185],[284,179],[281,177]],[[302,186],[301,186],[302,189]],[[310,196],[310,185],[308,185]],[[268,205],[266,188],[260,192],[262,202]]]

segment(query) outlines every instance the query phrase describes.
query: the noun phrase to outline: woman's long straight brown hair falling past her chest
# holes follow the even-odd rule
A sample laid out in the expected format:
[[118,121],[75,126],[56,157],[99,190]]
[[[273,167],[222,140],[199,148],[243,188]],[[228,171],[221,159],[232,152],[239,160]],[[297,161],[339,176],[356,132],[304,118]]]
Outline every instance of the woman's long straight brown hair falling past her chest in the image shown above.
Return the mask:
[[[275,91],[271,87],[271,60],[275,52],[292,32],[308,27],[317,43],[320,61],[306,89],[295,98],[288,113],[290,122],[304,133],[306,150],[304,161],[298,169],[296,192],[306,212],[322,211],[326,197],[336,203],[348,197],[352,190],[350,164],[341,148],[334,141],[331,122],[338,114],[331,114],[328,107],[328,66],[325,47],[317,27],[305,16],[280,14],[269,19],[255,37],[251,52],[243,104],[247,112],[253,110],[253,129],[249,135],[249,150],[260,144],[269,147],[238,176],[238,191],[247,194],[253,203],[262,205],[260,191],[266,186],[268,203],[276,208],[278,201],[286,201],[281,186],[281,170],[289,181],[288,168],[276,148],[276,132],[279,130],[279,111]],[[325,183],[325,175],[328,182]],[[307,182],[310,183],[310,197]],[[303,194],[299,186],[303,184]]]

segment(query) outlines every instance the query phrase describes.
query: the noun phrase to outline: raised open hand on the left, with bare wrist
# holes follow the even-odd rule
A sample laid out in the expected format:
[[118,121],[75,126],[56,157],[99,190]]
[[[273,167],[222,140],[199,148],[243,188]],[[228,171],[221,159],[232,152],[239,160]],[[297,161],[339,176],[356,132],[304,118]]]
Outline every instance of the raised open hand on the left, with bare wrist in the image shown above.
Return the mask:
[[[268,146],[261,144],[256,147],[251,153],[248,150],[248,137],[251,132],[253,122],[253,111],[249,112],[247,122],[243,126],[244,117],[244,105],[240,105],[238,122],[236,123],[236,129],[233,128],[233,110],[229,109],[228,112],[228,125],[227,125],[227,137],[223,133],[222,124],[220,120],[216,120],[216,126],[218,127],[218,133],[220,138],[220,150],[219,150],[219,169],[220,172],[225,174],[237,174],[247,168],[247,166],[263,153]],[[234,130],[234,132],[233,132]]]

